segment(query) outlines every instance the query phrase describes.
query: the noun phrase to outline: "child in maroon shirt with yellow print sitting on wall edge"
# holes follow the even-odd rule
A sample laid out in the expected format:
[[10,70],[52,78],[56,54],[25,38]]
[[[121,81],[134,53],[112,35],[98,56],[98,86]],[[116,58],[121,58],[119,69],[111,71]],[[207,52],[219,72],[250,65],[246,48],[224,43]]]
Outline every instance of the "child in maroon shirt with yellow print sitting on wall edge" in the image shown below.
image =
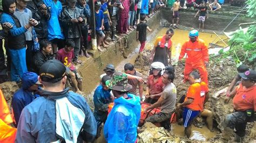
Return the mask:
[[76,67],[73,65],[72,60],[74,55],[75,41],[72,39],[66,40],[64,48],[60,49],[56,54],[56,59],[66,66],[66,73],[71,78],[71,83],[75,87],[76,92],[83,90],[82,77],[78,74]]

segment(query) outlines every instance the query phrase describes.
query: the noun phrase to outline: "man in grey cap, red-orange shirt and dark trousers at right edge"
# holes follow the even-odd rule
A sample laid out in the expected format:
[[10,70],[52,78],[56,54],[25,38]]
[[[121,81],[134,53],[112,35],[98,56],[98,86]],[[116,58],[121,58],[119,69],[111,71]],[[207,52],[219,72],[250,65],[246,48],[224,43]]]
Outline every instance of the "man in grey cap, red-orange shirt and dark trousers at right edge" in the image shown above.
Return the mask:
[[[235,142],[242,142],[245,137],[247,122],[255,121],[256,113],[256,71],[247,70],[239,73],[242,80],[239,86],[234,89],[226,98],[233,98],[234,112],[227,115],[224,120],[223,137],[230,140],[235,128]],[[255,139],[256,124],[251,128],[250,137]]]

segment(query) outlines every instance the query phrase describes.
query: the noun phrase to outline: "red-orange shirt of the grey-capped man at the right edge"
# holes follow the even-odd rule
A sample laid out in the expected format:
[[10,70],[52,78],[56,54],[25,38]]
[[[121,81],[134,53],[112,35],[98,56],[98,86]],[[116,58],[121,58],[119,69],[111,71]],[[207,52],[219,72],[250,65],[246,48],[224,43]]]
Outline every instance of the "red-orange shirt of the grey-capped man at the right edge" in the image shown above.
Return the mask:
[[238,111],[254,109],[256,111],[256,85],[245,88],[240,83],[237,87],[237,94],[233,98],[233,107]]

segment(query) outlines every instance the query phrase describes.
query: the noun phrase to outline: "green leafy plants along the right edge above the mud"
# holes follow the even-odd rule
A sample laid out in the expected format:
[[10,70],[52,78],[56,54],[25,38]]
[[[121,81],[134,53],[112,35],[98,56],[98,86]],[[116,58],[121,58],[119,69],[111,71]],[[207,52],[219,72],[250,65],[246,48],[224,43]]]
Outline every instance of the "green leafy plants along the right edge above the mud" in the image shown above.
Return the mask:
[[[256,0],[247,0],[247,17],[255,19]],[[224,52],[220,50],[220,56],[211,57],[214,61],[220,61],[223,58],[232,57],[237,65],[241,63],[253,63],[256,61],[256,24],[250,25],[247,32],[242,31],[241,27],[235,31],[233,37],[228,41],[230,50]]]

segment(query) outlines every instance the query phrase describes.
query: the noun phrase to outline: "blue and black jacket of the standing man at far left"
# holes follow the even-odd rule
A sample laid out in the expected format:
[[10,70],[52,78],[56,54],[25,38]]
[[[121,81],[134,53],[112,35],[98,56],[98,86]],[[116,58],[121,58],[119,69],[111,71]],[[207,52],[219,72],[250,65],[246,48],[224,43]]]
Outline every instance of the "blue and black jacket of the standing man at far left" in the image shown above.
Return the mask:
[[[3,14],[1,16],[2,23],[9,22],[13,27],[10,29],[8,38],[6,38],[6,42],[8,44],[8,48],[10,49],[22,49],[25,48],[25,32],[26,28],[21,26],[19,20],[14,14],[9,13],[9,7],[11,4],[15,3],[15,0],[3,0]],[[10,40],[8,40],[10,39]]]

